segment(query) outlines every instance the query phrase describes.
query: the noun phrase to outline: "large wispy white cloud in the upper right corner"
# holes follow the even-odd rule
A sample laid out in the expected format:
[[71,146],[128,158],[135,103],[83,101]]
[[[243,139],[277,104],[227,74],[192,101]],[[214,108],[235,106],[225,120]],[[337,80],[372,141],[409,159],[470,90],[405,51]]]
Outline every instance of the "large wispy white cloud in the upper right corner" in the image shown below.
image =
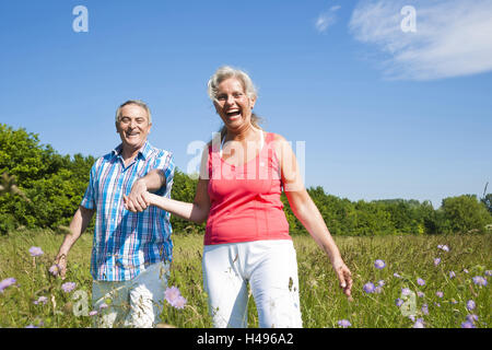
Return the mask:
[[[415,32],[403,32],[400,13],[415,9]],[[352,35],[385,54],[390,79],[433,80],[492,70],[492,0],[360,1]]]

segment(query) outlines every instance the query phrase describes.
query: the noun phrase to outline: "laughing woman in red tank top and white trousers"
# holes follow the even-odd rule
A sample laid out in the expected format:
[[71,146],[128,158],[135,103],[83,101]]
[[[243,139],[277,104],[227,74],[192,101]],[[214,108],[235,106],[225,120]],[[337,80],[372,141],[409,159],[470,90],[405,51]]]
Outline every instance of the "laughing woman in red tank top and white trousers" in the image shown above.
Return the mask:
[[352,279],[316,205],[307,194],[293,151],[279,135],[258,127],[257,94],[249,77],[220,68],[208,84],[224,126],[203,151],[192,203],[145,192],[131,211],[157,206],[202,223],[203,283],[214,327],[247,326],[247,283],[260,327],[302,327],[297,261],[281,190],[316,243],[327,253],[340,287],[351,294]]

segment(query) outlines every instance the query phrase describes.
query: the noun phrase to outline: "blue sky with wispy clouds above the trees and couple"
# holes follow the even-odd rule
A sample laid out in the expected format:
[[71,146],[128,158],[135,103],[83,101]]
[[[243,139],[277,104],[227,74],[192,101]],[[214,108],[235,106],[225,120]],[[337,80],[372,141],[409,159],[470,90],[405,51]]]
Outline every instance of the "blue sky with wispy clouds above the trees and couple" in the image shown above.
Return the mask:
[[491,16],[490,0],[1,1],[0,122],[98,156],[119,143],[117,106],[140,98],[150,141],[186,171],[221,125],[207,81],[231,65],[265,129],[305,142],[307,187],[436,208],[492,179]]

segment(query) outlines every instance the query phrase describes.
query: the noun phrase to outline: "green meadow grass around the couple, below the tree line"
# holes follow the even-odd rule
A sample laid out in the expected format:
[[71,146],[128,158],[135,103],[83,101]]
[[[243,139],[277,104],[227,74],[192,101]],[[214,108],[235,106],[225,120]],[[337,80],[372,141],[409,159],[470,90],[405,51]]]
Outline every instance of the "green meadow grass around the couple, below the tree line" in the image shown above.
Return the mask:
[[[353,301],[348,301],[328,258],[315,242],[309,236],[294,235],[303,326],[340,327],[338,322],[347,319],[351,327],[358,328],[409,328],[422,318],[429,328],[459,328],[467,317],[477,315],[473,326],[489,328],[490,285],[477,283],[473,277],[490,279],[491,237],[490,234],[336,236],[354,279]],[[92,234],[83,234],[73,246],[63,281],[48,272],[62,238],[46,231],[19,231],[0,236],[0,281],[16,280],[0,292],[0,327],[91,327],[92,318],[98,317],[89,315]],[[187,304],[177,310],[166,303],[163,323],[187,328],[211,327],[201,272],[202,235],[175,233],[173,242],[169,287],[179,288]],[[438,245],[446,245],[449,252]],[[28,253],[32,246],[40,247],[44,254],[32,257]],[[438,264],[436,258],[441,259]],[[376,268],[376,259],[384,260],[385,267]],[[425,284],[420,285],[418,278]],[[68,281],[74,282],[75,288],[65,292],[61,285]],[[365,292],[364,285],[370,282],[379,288]],[[412,298],[415,307],[406,313]],[[398,300],[403,305],[397,306]],[[470,300],[476,304],[472,310],[467,308]],[[248,304],[248,325],[258,327],[253,298]]]

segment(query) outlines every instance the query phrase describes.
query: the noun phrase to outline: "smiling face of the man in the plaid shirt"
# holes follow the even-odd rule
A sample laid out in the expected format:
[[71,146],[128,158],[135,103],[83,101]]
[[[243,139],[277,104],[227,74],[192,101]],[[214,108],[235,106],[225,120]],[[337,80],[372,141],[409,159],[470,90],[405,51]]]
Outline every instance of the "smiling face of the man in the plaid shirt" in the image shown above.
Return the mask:
[[124,149],[140,149],[147,141],[152,124],[145,109],[138,105],[129,104],[121,108],[119,121],[116,124],[116,132],[121,138]]

